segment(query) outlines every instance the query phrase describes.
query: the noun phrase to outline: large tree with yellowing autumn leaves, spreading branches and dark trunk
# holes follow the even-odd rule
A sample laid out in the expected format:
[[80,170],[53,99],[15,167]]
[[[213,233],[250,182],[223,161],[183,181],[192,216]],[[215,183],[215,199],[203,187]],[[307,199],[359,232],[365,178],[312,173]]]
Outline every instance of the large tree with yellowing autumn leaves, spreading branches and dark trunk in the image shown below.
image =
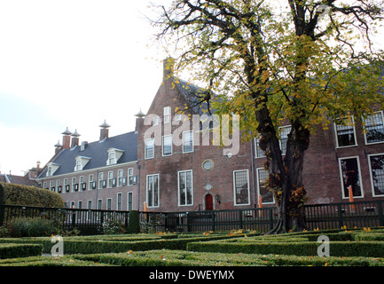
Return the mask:
[[[176,67],[215,92],[219,113],[240,114],[246,138],[261,138],[279,215],[297,217],[290,208],[304,200],[302,161],[316,126],[363,121],[384,106],[383,53],[373,44],[383,4],[174,0],[158,8],[153,25]],[[292,125],[284,158],[283,122]],[[279,232],[292,226],[281,223]]]

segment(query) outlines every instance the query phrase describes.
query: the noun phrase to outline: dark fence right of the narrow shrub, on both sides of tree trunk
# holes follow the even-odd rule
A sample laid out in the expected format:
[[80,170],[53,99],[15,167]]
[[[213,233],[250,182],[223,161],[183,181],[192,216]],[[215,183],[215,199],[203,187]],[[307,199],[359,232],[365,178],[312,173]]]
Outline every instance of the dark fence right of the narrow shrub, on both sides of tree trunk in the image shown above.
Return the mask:
[[[384,226],[384,201],[360,201],[305,205],[308,230],[341,227]],[[278,221],[277,208],[233,209],[192,212],[141,212],[145,232],[207,232],[218,230],[252,230],[269,232]]]

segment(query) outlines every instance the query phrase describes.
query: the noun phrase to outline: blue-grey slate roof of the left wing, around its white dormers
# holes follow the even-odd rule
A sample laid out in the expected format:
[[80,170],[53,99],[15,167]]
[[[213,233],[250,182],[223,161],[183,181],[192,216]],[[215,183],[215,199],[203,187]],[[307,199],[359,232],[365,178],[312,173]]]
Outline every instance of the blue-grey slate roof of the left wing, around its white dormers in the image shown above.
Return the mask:
[[[123,150],[124,153],[117,161],[117,164],[124,162],[137,161],[137,132],[131,131],[111,138],[106,138],[102,141],[91,142],[85,149],[81,151],[81,146],[75,146],[70,149],[63,149],[59,155],[51,161],[54,164],[59,164],[59,169],[53,174],[53,177],[74,172],[75,158],[77,156],[89,157],[88,162],[82,170],[92,170],[106,167],[108,159],[108,149],[116,148]],[[47,169],[39,175],[38,178],[46,177]]]

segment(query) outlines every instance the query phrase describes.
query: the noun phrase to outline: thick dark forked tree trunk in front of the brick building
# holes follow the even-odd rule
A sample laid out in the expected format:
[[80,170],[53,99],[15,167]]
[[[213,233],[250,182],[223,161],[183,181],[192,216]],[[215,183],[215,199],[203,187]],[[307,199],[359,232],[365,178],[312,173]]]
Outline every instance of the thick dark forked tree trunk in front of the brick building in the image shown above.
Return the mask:
[[310,131],[303,129],[299,122],[292,122],[283,157],[276,132],[269,125],[260,123],[259,131],[262,134],[260,146],[267,157],[264,168],[269,170],[266,185],[274,193],[278,205],[278,224],[270,233],[302,231],[306,227],[303,208],[306,192],[302,184],[302,170],[304,152],[310,145]]

